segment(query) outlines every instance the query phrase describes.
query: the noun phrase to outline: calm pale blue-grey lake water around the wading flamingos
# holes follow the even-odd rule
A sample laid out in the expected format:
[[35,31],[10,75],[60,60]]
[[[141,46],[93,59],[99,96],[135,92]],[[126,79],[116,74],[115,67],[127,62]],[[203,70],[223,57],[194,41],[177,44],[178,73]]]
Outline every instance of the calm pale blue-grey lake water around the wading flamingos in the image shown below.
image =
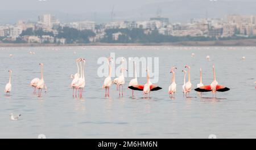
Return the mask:
[[[110,88],[110,98],[104,97],[104,78],[97,76],[97,59],[111,52],[115,57],[159,57],[157,84],[163,89],[152,92],[149,99],[142,98],[141,91],[135,91],[131,98],[127,84],[132,78],[126,78],[123,97],[118,96],[115,86]],[[0,48],[0,138],[37,138],[39,134],[47,138],[208,138],[209,134],[217,138],[256,138],[255,56],[254,47]],[[86,85],[81,99],[73,98],[69,88],[78,57],[86,59]],[[48,87],[40,98],[29,86],[32,79],[40,77],[39,63],[44,63]],[[204,84],[212,82],[213,64],[218,83],[231,90],[217,93],[217,99],[211,98],[211,93],[200,98],[194,91],[194,98],[183,97],[184,66],[191,65],[192,84],[196,87],[200,67]],[[177,67],[177,93],[171,99],[168,86],[172,66]],[[6,96],[3,91],[9,69],[13,70],[13,89],[11,96]],[[146,79],[138,81],[144,84]],[[21,113],[22,118],[11,121],[10,113]]]

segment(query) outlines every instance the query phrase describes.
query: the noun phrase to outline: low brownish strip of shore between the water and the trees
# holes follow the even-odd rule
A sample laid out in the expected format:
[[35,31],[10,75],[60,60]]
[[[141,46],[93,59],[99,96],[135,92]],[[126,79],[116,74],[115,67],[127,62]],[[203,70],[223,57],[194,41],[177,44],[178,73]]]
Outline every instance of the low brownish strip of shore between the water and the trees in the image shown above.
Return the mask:
[[256,39],[225,40],[225,41],[181,41],[161,43],[102,43],[88,44],[31,44],[31,43],[0,43],[0,47],[43,47],[43,46],[256,46]]

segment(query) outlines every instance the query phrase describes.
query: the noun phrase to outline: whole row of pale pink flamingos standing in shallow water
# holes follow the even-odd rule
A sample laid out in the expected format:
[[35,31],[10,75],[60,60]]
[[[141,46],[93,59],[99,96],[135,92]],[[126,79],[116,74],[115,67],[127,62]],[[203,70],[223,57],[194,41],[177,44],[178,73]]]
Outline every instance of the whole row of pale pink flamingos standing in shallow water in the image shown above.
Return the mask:
[[[192,54],[193,55],[193,54]],[[109,88],[112,84],[117,85],[117,90],[119,91],[119,96],[123,96],[123,85],[125,84],[125,76],[123,75],[123,71],[127,71],[123,67],[123,62],[125,61],[124,58],[122,58],[122,67],[121,67],[121,75],[118,78],[115,78],[112,80],[112,59],[113,58],[107,58],[108,59],[108,66],[109,66],[109,76],[105,78],[104,83],[102,85],[102,88],[105,89],[105,97],[109,97]],[[207,57],[209,59],[209,57]],[[36,90],[38,90],[38,96],[42,96],[42,89],[45,89],[45,92],[47,91],[47,86],[46,83],[44,82],[43,78],[43,63],[39,63],[41,67],[41,78],[35,78],[31,80],[31,87],[34,88],[34,94],[36,94]],[[82,92],[85,87],[85,76],[84,76],[84,67],[85,67],[85,59],[84,58],[78,58],[76,59],[76,65],[77,65],[77,73],[75,75],[71,75],[71,78],[73,79],[71,82],[70,87],[73,88],[73,97],[82,97]],[[134,66],[136,66],[136,63],[134,62]],[[136,67],[134,67],[136,68]],[[191,84],[191,78],[190,78],[190,71],[191,67],[186,65],[185,68],[186,70],[182,70],[184,72],[184,83],[182,85],[182,91],[184,96],[188,96],[189,92],[192,90],[192,84]],[[225,87],[224,85],[218,84],[216,80],[216,74],[215,74],[215,68],[213,68],[213,82],[210,85],[204,85],[202,82],[202,70],[200,68],[200,83],[197,84],[197,88],[195,91],[197,92],[212,92],[213,97],[216,97],[216,92],[225,92],[229,91],[230,89]],[[172,74],[172,79],[171,79],[171,84],[168,88],[168,94],[171,96],[174,96],[176,93],[176,82],[175,82],[175,70],[176,67],[172,67],[170,73]],[[9,83],[6,84],[5,87],[5,93],[11,92],[11,74],[13,71],[9,70]],[[147,73],[147,82],[144,85],[139,85],[138,80],[137,80],[137,72],[134,70],[134,79],[130,80],[128,88],[131,89],[131,94],[134,96],[134,91],[143,91],[144,97],[150,97],[150,92],[151,91],[158,91],[159,89],[162,89],[158,87],[158,85],[152,84],[150,82],[150,75],[148,73],[148,68],[146,70]],[[186,82],[186,75],[188,74],[188,80]],[[255,82],[256,83],[256,82]],[[122,87],[122,90],[121,90]],[[256,88],[256,87],[255,87]],[[77,91],[78,91],[78,96],[77,96]]]

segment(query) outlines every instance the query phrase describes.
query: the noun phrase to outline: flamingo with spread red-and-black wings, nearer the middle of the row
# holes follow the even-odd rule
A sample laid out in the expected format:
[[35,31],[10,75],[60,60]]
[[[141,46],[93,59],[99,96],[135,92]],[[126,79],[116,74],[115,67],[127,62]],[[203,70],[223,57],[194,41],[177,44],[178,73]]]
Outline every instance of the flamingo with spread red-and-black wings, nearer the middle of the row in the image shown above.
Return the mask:
[[133,89],[133,90],[137,90],[137,91],[143,91],[144,96],[147,97],[147,94],[149,94],[149,97],[150,97],[150,91],[158,91],[159,89],[162,89],[162,88],[160,88],[157,85],[152,84],[150,82],[150,76],[148,74],[148,68],[147,68],[146,72],[147,72],[147,83],[146,84],[144,84],[144,85],[133,85],[133,86],[130,86],[128,88]]

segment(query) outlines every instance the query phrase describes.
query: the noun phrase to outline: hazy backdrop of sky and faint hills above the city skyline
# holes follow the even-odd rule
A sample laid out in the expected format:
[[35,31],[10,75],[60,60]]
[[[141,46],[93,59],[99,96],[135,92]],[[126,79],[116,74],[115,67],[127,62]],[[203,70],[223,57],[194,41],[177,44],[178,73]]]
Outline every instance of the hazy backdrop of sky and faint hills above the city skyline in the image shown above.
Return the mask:
[[[242,0],[2,0],[0,23],[18,20],[36,21],[40,14],[53,14],[61,22],[93,20],[148,20],[159,14],[171,22],[187,22],[191,18],[222,18],[228,14],[256,15],[255,1]],[[15,5],[14,5],[15,4]],[[241,7],[243,6],[243,7]],[[111,12],[113,11],[113,19]]]

